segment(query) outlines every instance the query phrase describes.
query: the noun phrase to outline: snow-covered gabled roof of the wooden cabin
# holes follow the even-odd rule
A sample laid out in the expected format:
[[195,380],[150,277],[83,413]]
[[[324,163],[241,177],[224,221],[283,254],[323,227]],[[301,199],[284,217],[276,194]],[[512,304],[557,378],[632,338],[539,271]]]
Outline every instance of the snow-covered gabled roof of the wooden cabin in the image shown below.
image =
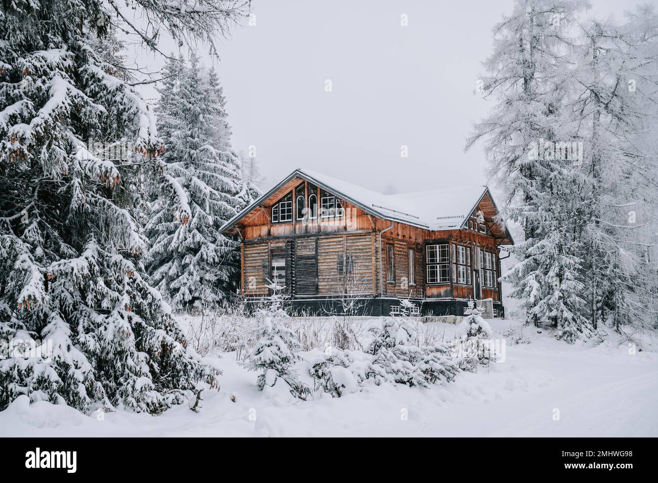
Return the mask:
[[467,185],[384,195],[324,173],[299,168],[250,206],[247,206],[240,214],[226,222],[222,231],[235,225],[247,213],[295,177],[307,179],[378,218],[400,221],[433,231],[459,229],[465,226],[468,216],[488,192],[486,186]]

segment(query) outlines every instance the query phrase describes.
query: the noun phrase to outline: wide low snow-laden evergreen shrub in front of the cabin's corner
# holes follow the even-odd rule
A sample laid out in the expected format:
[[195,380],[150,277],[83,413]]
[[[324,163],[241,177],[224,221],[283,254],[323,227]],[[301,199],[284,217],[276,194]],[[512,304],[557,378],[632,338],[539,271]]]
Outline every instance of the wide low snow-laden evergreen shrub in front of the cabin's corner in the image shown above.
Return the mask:
[[384,319],[382,328],[371,329],[373,340],[367,352],[372,354],[366,377],[376,384],[382,381],[428,387],[449,382],[459,372],[443,344],[418,347],[415,327],[401,319]]

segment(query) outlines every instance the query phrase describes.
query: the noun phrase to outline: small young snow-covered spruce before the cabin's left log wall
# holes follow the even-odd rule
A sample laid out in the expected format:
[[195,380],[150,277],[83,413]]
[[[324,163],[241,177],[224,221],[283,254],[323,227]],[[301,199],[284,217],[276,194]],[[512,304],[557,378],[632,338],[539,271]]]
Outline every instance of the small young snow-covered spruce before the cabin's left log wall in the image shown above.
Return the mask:
[[263,318],[256,330],[259,340],[245,366],[260,373],[257,379],[260,390],[274,387],[281,380],[295,398],[306,399],[311,390],[299,380],[293,369],[294,362],[299,359],[297,352],[301,350],[301,344],[295,333],[284,326],[288,315],[281,308],[281,289],[276,283],[270,284],[270,306],[259,311],[259,316]]

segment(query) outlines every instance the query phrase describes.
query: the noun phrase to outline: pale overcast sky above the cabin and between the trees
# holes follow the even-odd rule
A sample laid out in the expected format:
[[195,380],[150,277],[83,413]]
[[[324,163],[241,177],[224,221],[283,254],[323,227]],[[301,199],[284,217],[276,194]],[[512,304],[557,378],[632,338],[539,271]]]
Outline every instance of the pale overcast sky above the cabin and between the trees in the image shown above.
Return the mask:
[[[636,3],[592,0],[590,12],[620,17]],[[220,74],[234,149],[256,147],[265,189],[298,167],[376,191],[485,184],[482,149],[463,147],[492,104],[476,95],[476,80],[492,27],[511,6],[253,0],[256,25],[236,28],[219,61],[205,51],[203,59]],[[140,60],[152,70],[163,64],[153,55]]]

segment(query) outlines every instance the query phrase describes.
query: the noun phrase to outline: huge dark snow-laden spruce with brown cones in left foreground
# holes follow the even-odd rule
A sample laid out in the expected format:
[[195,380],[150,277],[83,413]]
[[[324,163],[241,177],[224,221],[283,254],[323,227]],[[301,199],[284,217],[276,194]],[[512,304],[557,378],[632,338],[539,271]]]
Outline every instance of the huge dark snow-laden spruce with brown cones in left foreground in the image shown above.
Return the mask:
[[[95,0],[16,0],[0,10],[0,338],[36,347],[0,361],[0,409],[24,394],[82,411],[155,413],[199,381],[216,383],[144,279],[145,239],[121,191],[157,162],[161,141],[128,70],[99,47],[117,45],[122,22],[149,47],[151,28],[163,25],[176,38],[212,41],[236,12],[201,4],[205,14],[185,2],[134,1],[147,30]],[[140,153],[127,165],[84,144],[123,138]]]

